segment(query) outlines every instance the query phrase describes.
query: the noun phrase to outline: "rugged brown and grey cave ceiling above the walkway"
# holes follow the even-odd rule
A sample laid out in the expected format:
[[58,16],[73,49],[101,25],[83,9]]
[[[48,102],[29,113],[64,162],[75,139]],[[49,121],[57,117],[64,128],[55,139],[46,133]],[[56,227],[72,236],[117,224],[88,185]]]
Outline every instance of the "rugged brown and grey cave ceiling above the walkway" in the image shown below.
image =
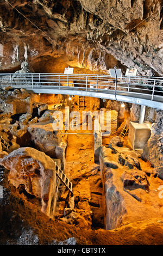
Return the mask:
[[[11,6],[12,5],[12,6]],[[162,0],[1,0],[0,72],[107,72],[162,76]],[[15,9],[14,9],[14,8]],[[81,71],[83,70],[83,71]]]

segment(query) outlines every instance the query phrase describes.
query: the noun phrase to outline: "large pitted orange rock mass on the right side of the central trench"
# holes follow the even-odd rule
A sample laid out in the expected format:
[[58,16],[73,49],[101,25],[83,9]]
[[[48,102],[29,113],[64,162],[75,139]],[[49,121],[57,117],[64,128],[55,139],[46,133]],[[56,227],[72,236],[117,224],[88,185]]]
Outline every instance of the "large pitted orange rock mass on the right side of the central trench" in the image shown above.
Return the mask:
[[158,190],[161,179],[155,181],[153,168],[146,168],[140,155],[122,142],[120,137],[114,137],[109,147],[102,147],[101,151],[106,229],[162,215]]

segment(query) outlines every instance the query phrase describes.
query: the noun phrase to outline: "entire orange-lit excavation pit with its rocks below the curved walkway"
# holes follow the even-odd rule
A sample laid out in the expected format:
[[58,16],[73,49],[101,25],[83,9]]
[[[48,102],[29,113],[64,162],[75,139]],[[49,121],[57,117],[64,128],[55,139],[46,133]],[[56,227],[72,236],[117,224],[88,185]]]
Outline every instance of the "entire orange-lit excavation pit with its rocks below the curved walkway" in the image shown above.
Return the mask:
[[[10,122],[2,123],[1,133],[12,143],[11,155],[3,155],[2,162],[19,177],[10,176],[11,184],[16,189],[25,185],[20,197],[39,206],[49,218],[86,229],[112,230],[161,216],[162,202],[156,193],[161,180],[152,164],[142,160],[142,151],[131,150],[129,136],[120,137],[130,112],[118,111],[119,105],[114,104],[102,105],[99,99],[85,97],[85,111],[105,111],[103,107],[110,111],[111,134],[103,139],[100,132],[89,129],[54,129],[53,112],[63,113],[65,106],[79,111],[78,96],[68,101],[67,96],[34,95],[30,113],[24,109],[26,113],[16,116],[14,124],[12,116]],[[58,167],[72,182],[72,192],[53,175]]]

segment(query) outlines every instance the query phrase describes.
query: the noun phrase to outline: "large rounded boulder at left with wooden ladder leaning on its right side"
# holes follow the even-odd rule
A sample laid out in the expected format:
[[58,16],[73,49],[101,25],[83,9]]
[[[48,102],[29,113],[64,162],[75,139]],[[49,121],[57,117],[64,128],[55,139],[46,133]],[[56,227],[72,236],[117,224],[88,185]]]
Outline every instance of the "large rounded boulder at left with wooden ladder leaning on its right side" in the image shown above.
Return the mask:
[[33,148],[20,148],[3,157],[1,165],[9,170],[11,184],[27,199],[40,199],[42,212],[53,217],[57,178],[51,157]]

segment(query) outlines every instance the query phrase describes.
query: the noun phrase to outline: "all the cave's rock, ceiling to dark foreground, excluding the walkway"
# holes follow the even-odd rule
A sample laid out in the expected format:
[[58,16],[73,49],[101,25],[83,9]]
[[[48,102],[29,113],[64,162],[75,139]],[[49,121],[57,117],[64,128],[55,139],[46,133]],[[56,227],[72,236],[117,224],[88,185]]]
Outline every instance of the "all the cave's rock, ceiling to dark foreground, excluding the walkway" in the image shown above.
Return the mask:
[[[20,86],[30,73],[67,66],[76,74],[117,66],[123,75],[136,68],[162,76],[162,10],[161,0],[3,1],[0,72],[12,84],[21,74]],[[120,135],[139,121],[139,105],[86,97],[85,111],[110,111],[111,134],[67,136],[53,129],[53,112],[79,111],[78,96],[32,94],[4,82],[0,76],[0,136],[9,143],[8,150],[0,143],[0,244],[162,244],[162,111],[146,108],[151,137],[131,150]],[[71,177],[72,193],[59,187],[55,162]]]

